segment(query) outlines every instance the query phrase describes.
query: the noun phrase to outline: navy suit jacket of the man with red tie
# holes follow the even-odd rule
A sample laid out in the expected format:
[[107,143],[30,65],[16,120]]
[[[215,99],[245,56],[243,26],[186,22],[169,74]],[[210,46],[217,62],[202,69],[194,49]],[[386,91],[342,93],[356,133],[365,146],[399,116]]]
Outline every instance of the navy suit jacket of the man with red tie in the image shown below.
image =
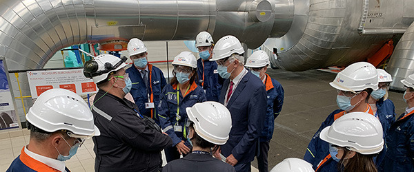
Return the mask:
[[[229,83],[230,79],[224,81],[219,103],[224,104]],[[247,72],[239,81],[226,106],[230,111],[233,127],[226,144],[221,146],[224,156],[233,154],[238,163],[253,161],[266,117],[266,100],[266,89],[262,80]]]

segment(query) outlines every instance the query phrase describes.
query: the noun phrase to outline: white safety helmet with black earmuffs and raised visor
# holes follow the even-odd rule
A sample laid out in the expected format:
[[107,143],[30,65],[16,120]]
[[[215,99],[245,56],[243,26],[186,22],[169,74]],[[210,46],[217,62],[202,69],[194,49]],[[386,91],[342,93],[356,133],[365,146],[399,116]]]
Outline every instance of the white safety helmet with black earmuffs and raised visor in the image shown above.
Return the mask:
[[99,83],[105,80],[110,72],[126,67],[126,59],[125,56],[118,58],[110,54],[101,54],[85,63],[83,75],[92,78],[94,83]]

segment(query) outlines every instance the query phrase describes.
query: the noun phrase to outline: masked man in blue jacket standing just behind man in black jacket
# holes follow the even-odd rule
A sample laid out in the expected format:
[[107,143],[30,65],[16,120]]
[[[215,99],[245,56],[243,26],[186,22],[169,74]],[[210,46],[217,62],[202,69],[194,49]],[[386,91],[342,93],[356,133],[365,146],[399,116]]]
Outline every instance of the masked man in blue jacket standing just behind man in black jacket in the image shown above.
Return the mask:
[[128,43],[128,53],[133,62],[132,66],[126,69],[132,81],[130,94],[141,115],[152,118],[159,125],[157,107],[162,89],[167,84],[166,78],[161,69],[148,64],[147,48],[141,40],[131,39]]

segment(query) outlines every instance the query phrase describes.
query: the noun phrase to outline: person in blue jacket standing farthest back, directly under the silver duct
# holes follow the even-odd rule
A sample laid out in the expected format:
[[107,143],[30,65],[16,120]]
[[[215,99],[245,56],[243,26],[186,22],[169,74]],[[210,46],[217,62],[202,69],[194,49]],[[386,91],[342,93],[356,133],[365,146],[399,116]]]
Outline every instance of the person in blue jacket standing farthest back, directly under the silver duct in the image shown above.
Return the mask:
[[213,38],[208,32],[200,32],[195,39],[195,47],[199,51],[197,60],[197,84],[203,87],[208,101],[219,101],[221,85],[224,79],[217,72],[217,63],[210,61],[213,54]]

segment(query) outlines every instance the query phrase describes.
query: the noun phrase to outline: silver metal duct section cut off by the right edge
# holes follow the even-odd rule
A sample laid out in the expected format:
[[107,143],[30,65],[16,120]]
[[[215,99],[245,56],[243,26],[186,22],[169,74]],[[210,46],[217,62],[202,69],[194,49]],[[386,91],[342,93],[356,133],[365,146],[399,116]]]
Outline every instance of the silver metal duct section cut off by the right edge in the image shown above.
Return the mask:
[[400,80],[414,74],[414,22],[397,43],[387,71],[393,74],[391,89],[404,91],[404,85]]

